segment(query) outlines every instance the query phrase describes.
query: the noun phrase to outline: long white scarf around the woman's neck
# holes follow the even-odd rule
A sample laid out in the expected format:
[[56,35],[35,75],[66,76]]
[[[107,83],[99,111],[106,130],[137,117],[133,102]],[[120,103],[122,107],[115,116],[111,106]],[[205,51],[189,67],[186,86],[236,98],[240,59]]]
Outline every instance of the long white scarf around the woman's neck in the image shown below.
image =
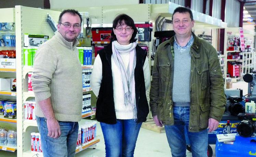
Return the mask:
[[[112,52],[115,60],[115,64],[121,72],[122,82],[123,82],[123,90],[124,90],[124,105],[129,107],[131,105],[133,109],[133,119],[137,118],[137,108],[136,108],[136,99],[135,93],[135,79],[134,79],[134,69],[136,66],[136,42],[130,43],[128,45],[121,45],[117,41],[112,42]],[[120,53],[130,52],[130,59],[127,70],[125,70],[125,66],[123,60],[120,56]]]

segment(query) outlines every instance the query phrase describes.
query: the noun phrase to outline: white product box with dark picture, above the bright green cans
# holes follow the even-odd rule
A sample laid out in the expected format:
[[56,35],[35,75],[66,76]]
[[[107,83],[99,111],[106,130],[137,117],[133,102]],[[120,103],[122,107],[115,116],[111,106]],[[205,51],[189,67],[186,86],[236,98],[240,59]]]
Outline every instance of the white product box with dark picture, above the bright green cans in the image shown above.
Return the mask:
[[39,47],[49,39],[47,35],[24,34],[24,46]]

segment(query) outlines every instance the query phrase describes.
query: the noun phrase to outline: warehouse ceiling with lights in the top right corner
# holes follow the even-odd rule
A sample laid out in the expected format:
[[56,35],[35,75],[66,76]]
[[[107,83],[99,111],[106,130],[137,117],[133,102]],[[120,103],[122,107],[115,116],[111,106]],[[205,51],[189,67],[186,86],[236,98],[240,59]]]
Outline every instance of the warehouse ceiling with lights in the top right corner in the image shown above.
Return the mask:
[[256,1],[255,0],[244,0],[244,18],[243,21],[247,21],[248,18],[256,20]]

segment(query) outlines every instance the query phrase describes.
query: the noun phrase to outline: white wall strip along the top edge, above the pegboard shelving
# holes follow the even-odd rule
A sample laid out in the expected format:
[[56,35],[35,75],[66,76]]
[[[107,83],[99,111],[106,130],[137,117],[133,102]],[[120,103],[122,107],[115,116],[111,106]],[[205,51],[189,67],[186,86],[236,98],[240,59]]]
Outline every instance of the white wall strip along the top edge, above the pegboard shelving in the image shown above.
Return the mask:
[[139,4],[139,0],[50,0],[51,9]]

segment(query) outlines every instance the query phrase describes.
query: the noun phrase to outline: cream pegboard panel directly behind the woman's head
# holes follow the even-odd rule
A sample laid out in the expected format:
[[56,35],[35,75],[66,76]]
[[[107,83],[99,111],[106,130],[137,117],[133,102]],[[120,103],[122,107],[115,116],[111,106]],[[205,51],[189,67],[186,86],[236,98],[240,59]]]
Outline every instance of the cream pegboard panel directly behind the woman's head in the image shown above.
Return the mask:
[[112,24],[114,18],[118,14],[127,14],[131,16],[135,23],[149,22],[150,8],[150,4],[103,6],[102,23]]

